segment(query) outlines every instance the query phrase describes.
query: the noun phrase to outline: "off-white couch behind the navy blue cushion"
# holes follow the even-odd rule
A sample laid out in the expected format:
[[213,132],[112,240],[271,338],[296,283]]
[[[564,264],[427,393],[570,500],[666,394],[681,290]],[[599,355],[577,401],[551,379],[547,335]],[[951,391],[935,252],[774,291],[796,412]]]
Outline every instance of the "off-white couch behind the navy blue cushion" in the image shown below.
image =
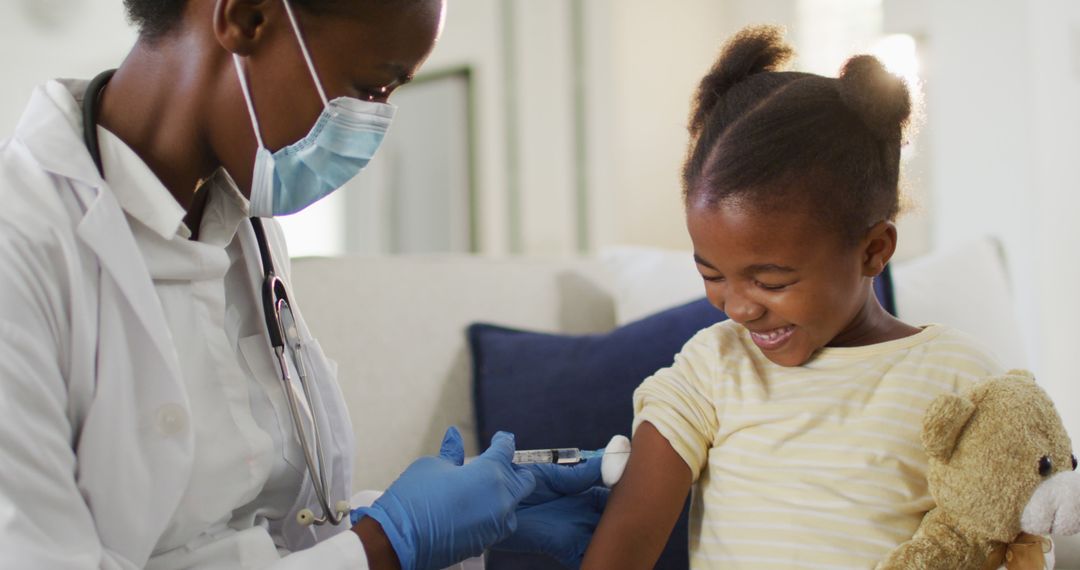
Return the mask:
[[[1008,367],[1026,365],[1008,277],[993,241],[893,268],[912,323],[977,332]],[[613,249],[594,258],[469,256],[297,259],[294,298],[339,378],[356,434],[355,489],[386,488],[458,425],[475,453],[464,329],[485,321],[531,330],[603,332],[702,295],[689,254]],[[972,295],[977,290],[978,295]],[[1080,541],[1057,541],[1080,570]]]

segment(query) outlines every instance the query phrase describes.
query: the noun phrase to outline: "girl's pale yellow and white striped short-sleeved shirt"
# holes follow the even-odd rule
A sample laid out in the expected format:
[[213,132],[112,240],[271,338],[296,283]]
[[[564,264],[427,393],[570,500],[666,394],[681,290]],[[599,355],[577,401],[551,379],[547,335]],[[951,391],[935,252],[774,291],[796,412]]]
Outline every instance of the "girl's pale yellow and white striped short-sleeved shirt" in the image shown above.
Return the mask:
[[931,325],[773,364],[731,321],[696,335],[634,393],[690,466],[692,568],[867,569],[933,506],[922,416],[1000,366]]

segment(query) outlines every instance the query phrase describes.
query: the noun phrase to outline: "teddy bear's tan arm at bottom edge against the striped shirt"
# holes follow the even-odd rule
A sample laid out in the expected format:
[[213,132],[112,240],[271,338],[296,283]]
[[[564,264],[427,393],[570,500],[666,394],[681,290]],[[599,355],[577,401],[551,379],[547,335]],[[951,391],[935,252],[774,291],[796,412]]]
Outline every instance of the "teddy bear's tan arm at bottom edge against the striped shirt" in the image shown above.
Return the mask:
[[976,570],[985,553],[931,512],[912,540],[894,548],[876,570]]

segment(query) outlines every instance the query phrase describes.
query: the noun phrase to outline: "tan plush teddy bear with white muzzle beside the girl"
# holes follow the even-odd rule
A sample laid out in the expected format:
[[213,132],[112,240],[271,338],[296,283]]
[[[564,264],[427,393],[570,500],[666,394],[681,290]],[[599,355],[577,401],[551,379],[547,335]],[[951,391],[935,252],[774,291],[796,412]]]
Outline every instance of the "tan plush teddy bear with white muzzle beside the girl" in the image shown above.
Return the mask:
[[1030,372],[935,398],[922,445],[936,506],[878,570],[1043,570],[1048,535],[1080,532],[1072,444]]

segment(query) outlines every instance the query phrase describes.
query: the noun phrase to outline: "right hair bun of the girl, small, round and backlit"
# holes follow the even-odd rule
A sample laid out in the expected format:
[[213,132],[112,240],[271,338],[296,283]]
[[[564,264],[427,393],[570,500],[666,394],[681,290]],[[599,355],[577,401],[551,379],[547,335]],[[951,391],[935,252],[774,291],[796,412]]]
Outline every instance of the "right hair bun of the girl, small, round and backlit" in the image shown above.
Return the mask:
[[880,139],[900,137],[912,116],[907,84],[873,55],[856,55],[843,64],[840,97]]

